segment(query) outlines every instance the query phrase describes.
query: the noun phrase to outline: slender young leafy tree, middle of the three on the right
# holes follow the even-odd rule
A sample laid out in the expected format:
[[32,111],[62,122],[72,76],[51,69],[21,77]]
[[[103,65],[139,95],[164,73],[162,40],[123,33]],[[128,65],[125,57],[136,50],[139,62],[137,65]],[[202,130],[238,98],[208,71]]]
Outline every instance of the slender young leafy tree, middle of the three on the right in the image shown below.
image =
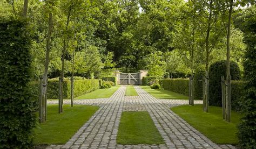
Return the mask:
[[209,0],[193,1],[195,9],[197,11],[197,18],[199,24],[199,30],[203,35],[202,45],[205,48],[205,90],[203,98],[203,110],[208,112],[208,88],[209,88],[209,63],[211,61],[210,55],[218,44],[219,38],[221,37],[221,24],[219,19],[219,5],[217,2]]

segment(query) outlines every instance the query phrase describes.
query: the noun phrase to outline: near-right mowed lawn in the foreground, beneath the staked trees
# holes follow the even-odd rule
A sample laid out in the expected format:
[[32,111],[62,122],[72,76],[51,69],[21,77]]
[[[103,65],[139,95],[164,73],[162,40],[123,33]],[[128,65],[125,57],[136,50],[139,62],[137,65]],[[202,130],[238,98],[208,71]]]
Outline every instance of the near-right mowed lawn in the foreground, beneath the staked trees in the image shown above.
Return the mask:
[[187,123],[205,134],[217,144],[238,144],[237,124],[241,118],[240,113],[231,112],[231,123],[222,119],[221,107],[209,107],[209,112],[203,112],[203,105],[181,105],[171,108]]

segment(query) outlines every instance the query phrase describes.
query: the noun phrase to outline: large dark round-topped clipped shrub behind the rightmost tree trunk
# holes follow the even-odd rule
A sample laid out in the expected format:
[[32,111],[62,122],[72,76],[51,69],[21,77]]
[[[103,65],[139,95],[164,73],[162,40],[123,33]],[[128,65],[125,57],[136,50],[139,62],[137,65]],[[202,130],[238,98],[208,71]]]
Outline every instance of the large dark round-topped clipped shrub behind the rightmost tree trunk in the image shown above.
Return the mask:
[[[237,63],[230,62],[230,74],[232,80],[240,79],[240,69]],[[209,69],[209,104],[221,106],[221,76],[226,78],[226,60],[217,61]]]

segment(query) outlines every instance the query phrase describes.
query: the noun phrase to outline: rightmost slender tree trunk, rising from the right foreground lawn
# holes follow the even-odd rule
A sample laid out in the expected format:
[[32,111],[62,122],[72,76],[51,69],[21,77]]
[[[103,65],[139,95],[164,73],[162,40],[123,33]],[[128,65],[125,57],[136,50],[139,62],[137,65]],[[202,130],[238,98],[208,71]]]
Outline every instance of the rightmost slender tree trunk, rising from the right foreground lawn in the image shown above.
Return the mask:
[[228,11],[228,24],[227,24],[227,88],[226,88],[226,110],[227,110],[227,122],[230,122],[231,116],[231,75],[230,75],[230,35],[231,35],[231,17],[233,10],[233,0],[230,0],[230,10]]

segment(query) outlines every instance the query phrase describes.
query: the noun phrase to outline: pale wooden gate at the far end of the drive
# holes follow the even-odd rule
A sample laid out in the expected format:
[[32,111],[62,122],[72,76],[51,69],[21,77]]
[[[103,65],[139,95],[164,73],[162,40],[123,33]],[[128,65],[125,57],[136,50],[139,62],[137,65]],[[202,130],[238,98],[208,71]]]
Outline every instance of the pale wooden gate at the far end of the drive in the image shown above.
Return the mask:
[[139,85],[140,73],[120,73],[121,85]]

